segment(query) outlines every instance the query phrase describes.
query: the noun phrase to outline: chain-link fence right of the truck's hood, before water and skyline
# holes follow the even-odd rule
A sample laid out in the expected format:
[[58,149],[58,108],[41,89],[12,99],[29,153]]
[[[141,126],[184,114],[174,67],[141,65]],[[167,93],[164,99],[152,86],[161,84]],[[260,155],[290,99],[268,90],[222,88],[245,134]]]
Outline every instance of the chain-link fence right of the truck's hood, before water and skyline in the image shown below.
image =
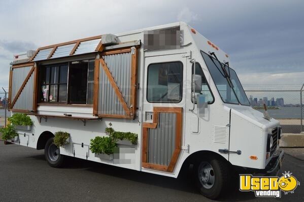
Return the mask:
[[[286,87],[285,87],[286,88]],[[256,90],[245,88],[252,108],[263,112],[263,104],[272,118],[280,121],[283,133],[304,131],[303,85],[297,90]]]

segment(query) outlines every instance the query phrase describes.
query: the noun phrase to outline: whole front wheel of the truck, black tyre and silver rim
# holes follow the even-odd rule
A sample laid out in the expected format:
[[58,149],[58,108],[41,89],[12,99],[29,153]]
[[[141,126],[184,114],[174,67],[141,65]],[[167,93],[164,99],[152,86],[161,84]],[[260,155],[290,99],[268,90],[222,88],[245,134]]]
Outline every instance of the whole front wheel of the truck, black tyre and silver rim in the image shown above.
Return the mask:
[[194,172],[199,192],[208,198],[218,198],[229,187],[229,165],[225,160],[205,158],[195,164]]

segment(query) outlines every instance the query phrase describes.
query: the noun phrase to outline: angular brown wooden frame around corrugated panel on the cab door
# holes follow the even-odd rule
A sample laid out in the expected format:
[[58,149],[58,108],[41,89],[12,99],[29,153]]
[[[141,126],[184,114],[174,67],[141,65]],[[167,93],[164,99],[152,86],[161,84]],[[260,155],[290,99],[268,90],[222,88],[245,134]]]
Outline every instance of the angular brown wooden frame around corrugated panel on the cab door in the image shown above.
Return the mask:
[[[158,117],[160,112],[175,113],[176,123],[175,123],[175,150],[172,154],[170,163],[168,166],[157,165],[152,163],[147,163],[147,148],[148,148],[148,128],[154,129],[158,125]],[[183,108],[181,107],[153,107],[153,123],[143,123],[143,156],[142,156],[142,167],[147,169],[166,171],[172,173],[174,171],[175,165],[177,163],[179,154],[181,152],[182,144],[182,120],[183,119]],[[166,169],[165,169],[166,168]],[[164,170],[165,169],[165,170]]]

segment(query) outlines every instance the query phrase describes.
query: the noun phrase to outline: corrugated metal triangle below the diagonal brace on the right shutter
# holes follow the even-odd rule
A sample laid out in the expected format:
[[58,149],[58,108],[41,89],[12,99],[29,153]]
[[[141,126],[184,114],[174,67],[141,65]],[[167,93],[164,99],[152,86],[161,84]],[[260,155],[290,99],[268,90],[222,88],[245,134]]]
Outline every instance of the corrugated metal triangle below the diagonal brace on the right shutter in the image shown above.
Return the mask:
[[125,115],[108,77],[99,63],[98,114]]

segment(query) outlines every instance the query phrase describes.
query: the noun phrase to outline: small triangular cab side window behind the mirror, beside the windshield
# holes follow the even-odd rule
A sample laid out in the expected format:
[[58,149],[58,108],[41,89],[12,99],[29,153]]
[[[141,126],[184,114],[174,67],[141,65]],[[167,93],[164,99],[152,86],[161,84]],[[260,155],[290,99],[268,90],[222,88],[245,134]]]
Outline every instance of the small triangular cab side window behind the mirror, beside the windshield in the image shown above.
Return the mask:
[[[194,70],[194,64],[192,64],[192,75],[194,72],[193,70]],[[198,62],[196,62],[196,64],[195,64],[195,74],[201,76],[201,91],[195,92],[195,94],[205,95],[206,101],[208,102],[208,104],[212,104],[214,102],[214,97],[210,90],[209,84],[206,80],[206,77],[205,77],[204,73],[202,72],[201,66]],[[191,82],[191,84],[192,84],[192,82]],[[192,85],[191,85],[191,89],[193,91]],[[191,101],[193,102],[192,96],[191,96]],[[196,103],[196,101],[195,101],[195,103]]]

